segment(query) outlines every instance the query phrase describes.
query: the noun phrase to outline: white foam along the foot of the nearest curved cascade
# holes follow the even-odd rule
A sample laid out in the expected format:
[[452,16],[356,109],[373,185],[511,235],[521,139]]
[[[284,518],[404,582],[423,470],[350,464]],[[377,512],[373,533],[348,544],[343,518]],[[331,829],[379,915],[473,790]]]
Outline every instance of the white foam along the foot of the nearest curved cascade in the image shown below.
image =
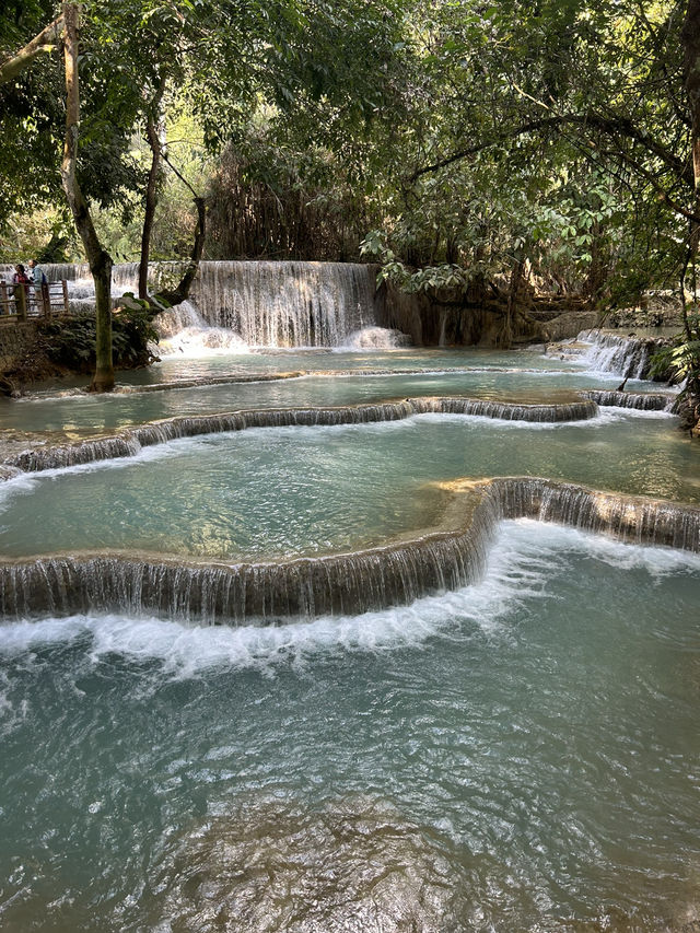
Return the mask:
[[222,666],[273,674],[279,664],[304,665],[318,655],[420,646],[434,637],[499,635],[508,631],[509,619],[525,598],[550,598],[552,567],[564,569],[572,552],[625,570],[641,569],[655,578],[700,573],[698,555],[623,545],[558,525],[518,520],[502,523],[482,582],[424,597],[410,606],[279,627],[196,627],[119,615],[19,621],[0,629],[0,653],[23,654],[88,635],[93,663],[116,654],[158,663],[170,677],[189,678]]

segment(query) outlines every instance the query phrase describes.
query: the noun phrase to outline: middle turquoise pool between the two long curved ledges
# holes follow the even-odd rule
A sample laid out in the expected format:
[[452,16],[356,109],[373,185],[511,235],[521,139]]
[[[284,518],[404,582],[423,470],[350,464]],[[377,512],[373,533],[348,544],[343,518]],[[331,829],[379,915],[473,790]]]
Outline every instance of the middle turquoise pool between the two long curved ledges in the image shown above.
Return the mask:
[[22,476],[0,488],[0,549],[236,559],[352,550],[434,524],[444,504],[435,480],[508,475],[700,502],[700,450],[669,416],[603,409],[555,425],[418,416],[213,434]]

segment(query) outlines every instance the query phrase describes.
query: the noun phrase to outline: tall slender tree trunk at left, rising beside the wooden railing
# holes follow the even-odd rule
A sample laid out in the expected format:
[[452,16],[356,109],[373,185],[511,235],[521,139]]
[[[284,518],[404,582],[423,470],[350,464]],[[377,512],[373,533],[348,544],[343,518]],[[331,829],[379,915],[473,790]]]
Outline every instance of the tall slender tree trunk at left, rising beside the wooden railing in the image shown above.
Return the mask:
[[90,215],[88,201],[75,177],[80,121],[78,83],[78,4],[63,3],[63,59],[66,65],[66,139],[61,162],[61,180],[73,214],[75,229],[83,242],[90,271],[95,282],[96,366],[91,389],[114,388],[112,362],[112,256],[103,248]]

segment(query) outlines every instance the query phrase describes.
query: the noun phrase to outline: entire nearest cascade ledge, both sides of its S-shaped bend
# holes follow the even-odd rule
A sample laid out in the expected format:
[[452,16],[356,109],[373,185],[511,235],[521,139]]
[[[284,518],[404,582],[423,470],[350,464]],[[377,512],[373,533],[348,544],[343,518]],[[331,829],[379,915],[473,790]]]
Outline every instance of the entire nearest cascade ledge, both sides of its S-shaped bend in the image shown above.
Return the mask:
[[0,559],[0,613],[25,618],[118,610],[210,625],[270,625],[406,605],[478,581],[503,518],[530,517],[700,551],[697,508],[529,477],[451,488],[438,528],[353,553],[237,564],[119,552]]

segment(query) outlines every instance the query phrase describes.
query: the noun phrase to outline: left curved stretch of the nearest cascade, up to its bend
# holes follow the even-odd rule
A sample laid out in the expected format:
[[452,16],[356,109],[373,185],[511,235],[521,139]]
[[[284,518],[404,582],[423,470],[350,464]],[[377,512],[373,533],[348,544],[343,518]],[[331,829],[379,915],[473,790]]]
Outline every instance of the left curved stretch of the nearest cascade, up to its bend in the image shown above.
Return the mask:
[[209,625],[273,623],[408,604],[479,579],[479,536],[431,536],[405,547],[270,564],[185,564],[129,556],[0,561],[0,614],[26,617],[118,608]]

